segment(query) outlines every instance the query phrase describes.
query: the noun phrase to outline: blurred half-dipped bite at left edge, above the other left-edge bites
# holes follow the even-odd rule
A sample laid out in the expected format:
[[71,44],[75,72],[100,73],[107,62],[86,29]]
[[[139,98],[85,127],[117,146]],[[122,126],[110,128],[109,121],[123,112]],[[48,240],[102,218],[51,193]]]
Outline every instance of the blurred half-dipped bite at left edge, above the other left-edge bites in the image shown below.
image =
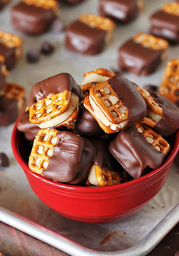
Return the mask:
[[11,70],[22,56],[22,39],[0,30],[0,55],[5,58],[6,68]]

